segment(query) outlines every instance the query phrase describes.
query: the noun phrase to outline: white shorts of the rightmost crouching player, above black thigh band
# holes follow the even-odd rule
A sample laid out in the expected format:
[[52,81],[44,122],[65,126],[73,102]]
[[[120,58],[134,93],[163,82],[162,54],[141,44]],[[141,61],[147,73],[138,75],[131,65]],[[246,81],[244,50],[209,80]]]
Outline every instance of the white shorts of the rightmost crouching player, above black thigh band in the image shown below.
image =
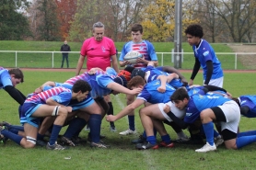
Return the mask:
[[238,133],[239,121],[240,121],[240,108],[239,105],[231,100],[225,102],[222,106],[218,106],[223,111],[227,122],[221,121],[221,130],[230,130],[234,133]]

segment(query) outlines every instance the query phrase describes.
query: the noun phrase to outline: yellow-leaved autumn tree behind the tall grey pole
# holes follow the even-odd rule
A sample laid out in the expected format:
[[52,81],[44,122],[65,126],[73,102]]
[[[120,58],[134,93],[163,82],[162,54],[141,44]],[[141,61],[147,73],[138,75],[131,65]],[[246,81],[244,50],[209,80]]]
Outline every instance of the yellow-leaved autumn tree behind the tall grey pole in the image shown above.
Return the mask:
[[[144,38],[152,41],[167,41],[173,38],[175,28],[175,0],[157,0],[152,1],[142,12],[142,25],[145,28]],[[182,6],[187,6],[184,3]],[[182,7],[184,8],[184,7]],[[190,8],[184,8],[182,11],[182,27],[188,24],[198,22],[192,18]]]

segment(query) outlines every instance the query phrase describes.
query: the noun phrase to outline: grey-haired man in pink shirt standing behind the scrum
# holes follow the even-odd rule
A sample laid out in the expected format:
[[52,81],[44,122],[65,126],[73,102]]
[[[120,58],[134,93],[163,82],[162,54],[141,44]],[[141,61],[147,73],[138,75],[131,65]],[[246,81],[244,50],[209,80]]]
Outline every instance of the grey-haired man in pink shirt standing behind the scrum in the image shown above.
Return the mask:
[[[117,50],[115,48],[113,40],[104,36],[104,25],[101,22],[97,22],[92,27],[93,37],[84,41],[80,52],[80,58],[76,66],[76,75],[79,75],[85,58],[87,57],[87,70],[91,68],[99,67],[103,71],[106,71],[107,67],[112,67],[119,73],[117,62]],[[109,104],[108,115],[113,114],[113,106],[111,102],[111,96],[104,96],[106,102]],[[113,122],[111,124],[111,131],[116,131]]]

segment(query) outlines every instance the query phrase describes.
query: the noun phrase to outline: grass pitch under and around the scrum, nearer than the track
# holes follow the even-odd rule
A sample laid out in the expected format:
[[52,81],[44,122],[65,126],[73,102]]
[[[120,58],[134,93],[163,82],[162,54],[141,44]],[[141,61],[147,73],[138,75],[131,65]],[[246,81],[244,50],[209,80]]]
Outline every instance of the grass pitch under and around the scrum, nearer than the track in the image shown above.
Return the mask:
[[[74,76],[74,72],[40,72],[24,71],[25,82],[17,88],[25,95],[48,80],[64,82]],[[188,79],[191,73],[183,73]],[[195,84],[202,84],[202,74],[198,74]],[[233,96],[255,94],[255,74],[225,73],[224,87]],[[111,96],[114,113],[117,114],[125,106],[124,95]],[[5,92],[0,90],[0,120],[12,124],[19,124],[17,103]],[[157,151],[137,151],[131,141],[143,131],[140,119],[135,111],[137,135],[121,136],[118,133],[128,128],[127,119],[115,122],[117,132],[109,130],[109,123],[102,121],[101,134],[106,135],[104,142],[111,145],[109,149],[91,149],[89,144],[83,144],[65,151],[47,151],[45,148],[22,149],[16,143],[7,141],[0,143],[1,169],[254,169],[256,143],[252,143],[239,151],[227,150],[224,146],[212,153],[195,153],[201,145],[176,144],[172,149],[158,149]],[[64,128],[65,129],[65,128]],[[64,132],[64,129],[61,133]],[[255,129],[255,119],[242,118],[240,130]],[[167,127],[172,139],[176,135]],[[188,134],[188,131],[185,130]],[[81,137],[87,139],[87,131],[81,132]],[[157,136],[158,141],[160,140]],[[65,159],[65,158],[71,159]]]

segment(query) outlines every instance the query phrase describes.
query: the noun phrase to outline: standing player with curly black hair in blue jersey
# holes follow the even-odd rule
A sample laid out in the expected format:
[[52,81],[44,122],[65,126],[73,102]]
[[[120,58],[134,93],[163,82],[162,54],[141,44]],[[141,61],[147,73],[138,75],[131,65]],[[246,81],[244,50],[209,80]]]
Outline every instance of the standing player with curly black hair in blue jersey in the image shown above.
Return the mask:
[[189,85],[198,73],[200,66],[204,71],[204,85],[223,86],[223,71],[212,46],[203,38],[204,32],[200,25],[190,25],[185,29],[185,34],[194,52],[195,63]]

